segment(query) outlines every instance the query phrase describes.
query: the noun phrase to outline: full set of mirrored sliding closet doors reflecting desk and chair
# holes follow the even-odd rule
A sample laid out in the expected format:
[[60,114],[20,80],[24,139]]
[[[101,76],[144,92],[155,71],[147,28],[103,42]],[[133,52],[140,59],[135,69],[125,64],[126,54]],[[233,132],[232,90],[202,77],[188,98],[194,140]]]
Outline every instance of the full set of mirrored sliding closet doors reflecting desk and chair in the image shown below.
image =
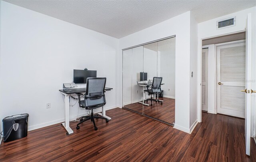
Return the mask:
[[123,50],[122,106],[175,122],[175,37]]

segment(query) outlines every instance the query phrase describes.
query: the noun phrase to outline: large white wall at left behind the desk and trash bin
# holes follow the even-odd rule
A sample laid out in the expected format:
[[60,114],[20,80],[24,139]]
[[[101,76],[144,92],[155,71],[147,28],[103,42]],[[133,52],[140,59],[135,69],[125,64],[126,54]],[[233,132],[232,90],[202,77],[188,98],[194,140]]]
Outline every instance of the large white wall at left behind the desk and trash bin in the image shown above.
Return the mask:
[[[106,92],[105,107],[118,105],[118,39],[7,2],[1,9],[0,118],[28,113],[29,130],[63,122],[58,90],[72,82],[73,69],[106,77],[114,89]],[[77,103],[70,106],[71,117],[84,113]]]

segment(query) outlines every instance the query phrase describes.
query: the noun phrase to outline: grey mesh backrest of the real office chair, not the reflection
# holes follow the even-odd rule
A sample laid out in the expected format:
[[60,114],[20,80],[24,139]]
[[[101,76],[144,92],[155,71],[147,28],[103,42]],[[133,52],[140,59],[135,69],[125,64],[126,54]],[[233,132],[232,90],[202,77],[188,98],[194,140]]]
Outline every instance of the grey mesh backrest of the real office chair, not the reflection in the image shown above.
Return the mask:
[[99,108],[106,104],[105,85],[106,78],[87,78],[84,96],[86,109]]

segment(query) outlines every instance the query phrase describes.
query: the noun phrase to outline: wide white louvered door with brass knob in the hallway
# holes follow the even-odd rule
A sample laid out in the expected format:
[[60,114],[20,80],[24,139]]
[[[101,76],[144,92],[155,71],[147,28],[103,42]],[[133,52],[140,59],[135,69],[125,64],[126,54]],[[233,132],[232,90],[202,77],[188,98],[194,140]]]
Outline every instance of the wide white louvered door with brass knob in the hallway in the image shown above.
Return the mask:
[[[241,41],[240,41],[241,42]],[[244,118],[245,42],[217,47],[218,108],[220,114]]]

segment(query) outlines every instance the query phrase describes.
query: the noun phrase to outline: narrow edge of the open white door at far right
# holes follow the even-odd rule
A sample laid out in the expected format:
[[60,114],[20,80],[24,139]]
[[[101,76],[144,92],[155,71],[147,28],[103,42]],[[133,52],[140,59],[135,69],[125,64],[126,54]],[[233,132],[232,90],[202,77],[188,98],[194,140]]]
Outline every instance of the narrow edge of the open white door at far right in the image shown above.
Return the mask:
[[247,15],[246,23],[246,89],[245,93],[245,147],[246,154],[250,155],[250,131],[251,131],[251,69],[252,69],[252,16]]

